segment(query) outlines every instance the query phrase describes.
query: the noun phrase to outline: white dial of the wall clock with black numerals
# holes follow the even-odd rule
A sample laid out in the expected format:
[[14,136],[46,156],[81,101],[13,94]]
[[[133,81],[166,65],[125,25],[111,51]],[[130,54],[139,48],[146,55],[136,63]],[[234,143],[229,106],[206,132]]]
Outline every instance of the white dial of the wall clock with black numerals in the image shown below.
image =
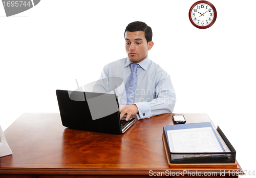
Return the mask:
[[191,19],[198,26],[207,26],[214,19],[214,10],[205,3],[197,4],[191,11]]

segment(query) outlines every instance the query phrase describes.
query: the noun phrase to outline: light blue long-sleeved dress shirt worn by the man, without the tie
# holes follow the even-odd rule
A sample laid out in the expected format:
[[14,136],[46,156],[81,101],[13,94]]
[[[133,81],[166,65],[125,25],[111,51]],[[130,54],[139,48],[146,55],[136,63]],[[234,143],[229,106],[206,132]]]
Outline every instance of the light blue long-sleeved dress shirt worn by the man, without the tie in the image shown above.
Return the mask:
[[[120,77],[125,84],[132,70],[128,58],[119,59],[104,66],[101,79],[108,81],[109,77]],[[138,63],[137,85],[134,103],[138,107],[138,119],[150,118],[165,113],[173,113],[176,95],[170,76],[158,64],[148,57]],[[108,83],[109,85],[109,83]],[[109,88],[103,88],[103,93],[111,93]],[[120,103],[124,88],[116,90]]]

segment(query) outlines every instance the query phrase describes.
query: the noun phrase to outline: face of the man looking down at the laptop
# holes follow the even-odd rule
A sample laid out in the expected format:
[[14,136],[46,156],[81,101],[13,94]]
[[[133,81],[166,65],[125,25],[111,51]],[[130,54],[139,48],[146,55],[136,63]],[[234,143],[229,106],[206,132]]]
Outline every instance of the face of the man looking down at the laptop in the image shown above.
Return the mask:
[[153,47],[153,41],[146,41],[145,32],[125,32],[125,49],[128,58],[139,63],[147,57],[147,52]]

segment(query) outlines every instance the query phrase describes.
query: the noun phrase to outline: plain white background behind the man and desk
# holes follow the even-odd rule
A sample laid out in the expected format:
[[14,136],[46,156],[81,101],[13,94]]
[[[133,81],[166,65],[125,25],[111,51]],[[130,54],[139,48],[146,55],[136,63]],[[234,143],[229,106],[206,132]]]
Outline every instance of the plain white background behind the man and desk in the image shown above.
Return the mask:
[[95,81],[126,57],[124,29],[139,20],[153,29],[149,56],[171,76],[175,113],[208,114],[254,171],[256,1],[211,0],[217,20],[204,30],[188,19],[195,2],[41,0],[11,17],[0,5],[3,130],[23,113],[58,113],[55,90]]

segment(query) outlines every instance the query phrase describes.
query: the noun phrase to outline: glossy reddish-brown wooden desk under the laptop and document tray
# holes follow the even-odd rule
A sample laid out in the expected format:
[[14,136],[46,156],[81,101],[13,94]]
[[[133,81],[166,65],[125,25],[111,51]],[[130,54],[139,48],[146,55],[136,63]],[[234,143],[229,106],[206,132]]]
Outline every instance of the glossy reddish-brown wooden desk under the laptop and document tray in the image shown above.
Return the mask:
[[[206,114],[184,116],[187,123],[210,121]],[[59,114],[23,114],[5,130],[13,154],[0,158],[0,177],[242,174],[239,164],[222,169],[169,168],[162,132],[163,126],[170,124],[172,114],[165,114],[137,120],[124,134],[111,135],[63,127]]]

